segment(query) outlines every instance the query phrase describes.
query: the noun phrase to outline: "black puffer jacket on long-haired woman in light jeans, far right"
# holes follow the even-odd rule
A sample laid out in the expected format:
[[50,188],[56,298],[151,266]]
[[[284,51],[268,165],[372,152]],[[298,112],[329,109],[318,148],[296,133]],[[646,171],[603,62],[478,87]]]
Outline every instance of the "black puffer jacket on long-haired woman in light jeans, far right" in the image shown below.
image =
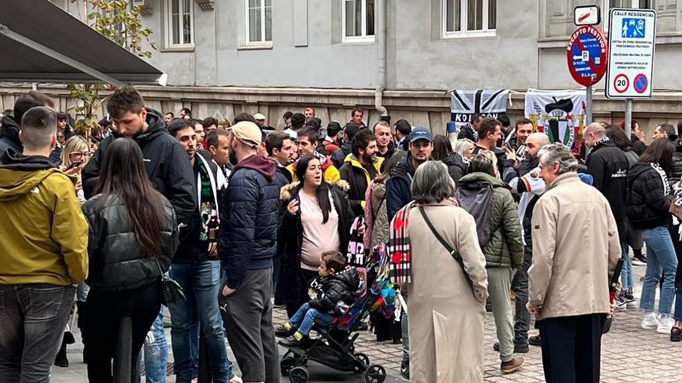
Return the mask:
[[625,211],[633,227],[639,230],[667,226],[672,222],[670,186],[665,171],[658,164],[637,162],[627,174]]

